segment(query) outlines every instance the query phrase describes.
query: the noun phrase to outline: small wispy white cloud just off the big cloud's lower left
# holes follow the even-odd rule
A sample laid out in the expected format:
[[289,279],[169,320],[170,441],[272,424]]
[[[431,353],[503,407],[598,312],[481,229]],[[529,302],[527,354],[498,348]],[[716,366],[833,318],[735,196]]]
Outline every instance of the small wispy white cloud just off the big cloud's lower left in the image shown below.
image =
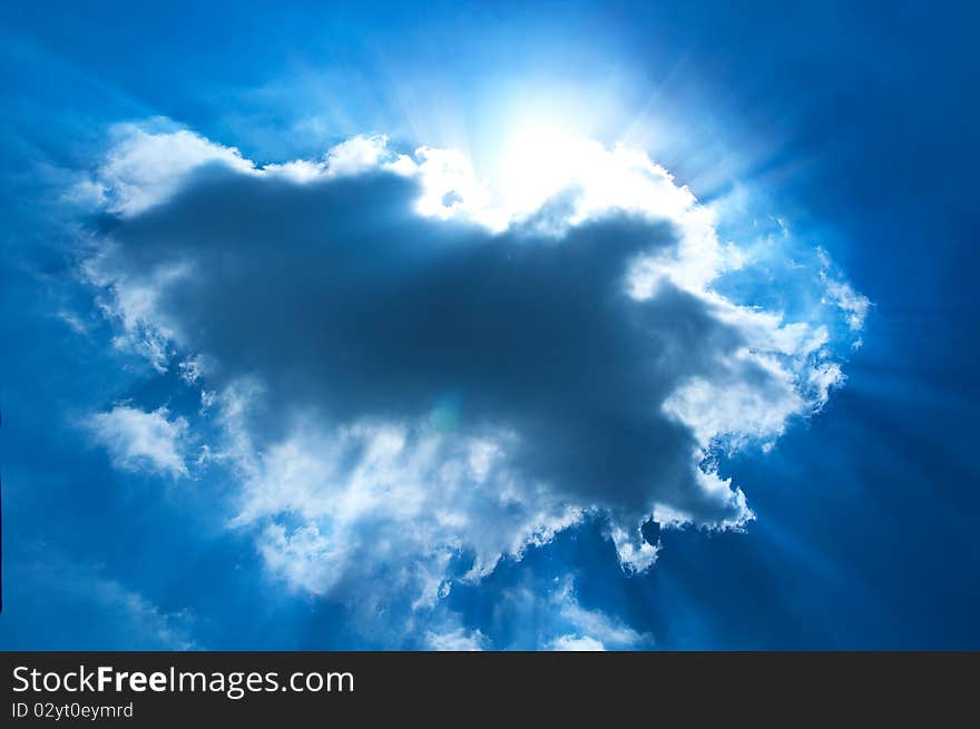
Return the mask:
[[92,415],[86,426],[106,447],[112,463],[126,471],[151,471],[173,477],[188,475],[180,455],[187,434],[187,421],[169,418],[165,407],[144,412],[117,405]]

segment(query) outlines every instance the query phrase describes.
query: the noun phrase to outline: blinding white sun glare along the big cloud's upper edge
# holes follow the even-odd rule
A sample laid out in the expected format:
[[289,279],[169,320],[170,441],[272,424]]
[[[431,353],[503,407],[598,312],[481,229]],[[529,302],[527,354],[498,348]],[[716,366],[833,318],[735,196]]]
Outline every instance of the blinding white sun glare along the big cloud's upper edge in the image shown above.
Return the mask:
[[607,147],[550,117],[509,125],[494,151],[480,169],[459,150],[432,147],[398,165],[422,181],[422,215],[471,220],[494,231],[530,221],[540,233],[560,234],[614,211],[673,221],[680,243],[672,259],[635,267],[630,286],[639,298],[650,296],[663,276],[698,290],[723,267],[714,211],[646,151]]

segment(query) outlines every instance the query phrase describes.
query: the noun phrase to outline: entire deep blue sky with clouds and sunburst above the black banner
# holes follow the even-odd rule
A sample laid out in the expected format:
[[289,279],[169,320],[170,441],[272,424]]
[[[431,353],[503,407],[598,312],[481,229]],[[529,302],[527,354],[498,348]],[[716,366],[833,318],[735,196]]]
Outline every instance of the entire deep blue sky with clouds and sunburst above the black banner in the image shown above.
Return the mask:
[[967,3],[6,3],[3,649],[978,649]]

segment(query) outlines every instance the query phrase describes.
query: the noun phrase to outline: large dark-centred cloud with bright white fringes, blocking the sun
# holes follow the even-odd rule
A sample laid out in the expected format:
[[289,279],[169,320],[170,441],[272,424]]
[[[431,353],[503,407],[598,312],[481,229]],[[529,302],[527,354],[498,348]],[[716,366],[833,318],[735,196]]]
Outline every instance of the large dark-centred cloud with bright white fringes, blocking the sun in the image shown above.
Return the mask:
[[[645,569],[650,518],[752,519],[713,449],[771,443],[842,381],[821,317],[718,293],[744,260],[640,152],[570,147],[528,209],[457,152],[383,138],[257,167],[118,134],[86,184],[87,276],[120,343],[200,387],[233,524],[311,592],[432,605],[461,554],[477,578],[587,512]],[[812,285],[860,328],[860,295]]]

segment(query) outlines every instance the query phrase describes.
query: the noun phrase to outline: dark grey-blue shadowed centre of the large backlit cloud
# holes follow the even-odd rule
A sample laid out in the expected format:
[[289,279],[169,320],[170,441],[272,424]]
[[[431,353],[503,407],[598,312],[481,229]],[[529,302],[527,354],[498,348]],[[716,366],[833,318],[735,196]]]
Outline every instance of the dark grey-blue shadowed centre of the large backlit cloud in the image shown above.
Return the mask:
[[458,432],[516,433],[511,467],[576,503],[734,515],[696,487],[694,439],[661,404],[718,373],[742,336],[669,284],[644,302],[624,290],[629,262],[676,234],[610,215],[557,237],[492,235],[420,217],[416,196],[393,174],[298,185],[208,167],[98,226],[127,277],[193,262],[159,309],[219,364],[212,382],[261,377],[270,434],[301,410],[413,422],[450,398]]

